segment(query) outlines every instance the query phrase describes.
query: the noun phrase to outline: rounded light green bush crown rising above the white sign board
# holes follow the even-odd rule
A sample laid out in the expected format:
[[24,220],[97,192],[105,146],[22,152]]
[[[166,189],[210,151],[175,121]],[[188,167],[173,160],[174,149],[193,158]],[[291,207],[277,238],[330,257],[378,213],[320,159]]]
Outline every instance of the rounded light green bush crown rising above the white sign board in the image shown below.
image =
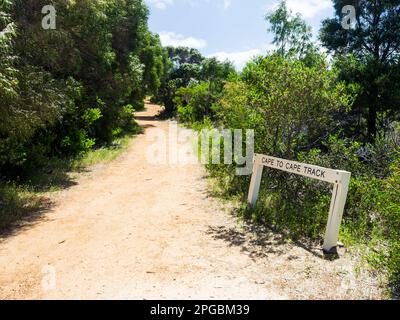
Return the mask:
[[257,128],[263,138],[256,139],[256,151],[288,159],[318,146],[335,128],[333,112],[351,103],[349,88],[323,64],[307,67],[272,55],[249,63],[242,79],[228,86],[217,113],[231,128]]

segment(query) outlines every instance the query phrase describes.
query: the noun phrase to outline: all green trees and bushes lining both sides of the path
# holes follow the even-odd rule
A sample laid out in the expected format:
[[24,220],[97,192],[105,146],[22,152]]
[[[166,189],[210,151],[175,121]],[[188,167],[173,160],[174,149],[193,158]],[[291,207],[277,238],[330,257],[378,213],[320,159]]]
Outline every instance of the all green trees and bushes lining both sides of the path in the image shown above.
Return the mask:
[[[399,286],[400,1],[359,1],[356,26],[345,30],[348,3],[335,0],[335,17],[320,32],[332,65],[283,1],[266,16],[277,52],[241,74],[196,49],[162,48],[143,0],[50,2],[56,30],[41,27],[49,1],[0,0],[0,178],[34,183],[32,173],[54,170],[57,178],[45,184],[53,188],[65,183],[70,159],[113,159],[126,134],[139,132],[133,113],[152,96],[197,130],[255,129],[257,153],[352,172],[341,237],[371,248],[371,265]],[[225,195],[246,196],[249,177],[236,176],[234,165],[207,168]],[[320,241],[330,186],[264,175],[258,207],[243,204],[242,213]],[[44,209],[41,202],[0,184],[0,228]]]

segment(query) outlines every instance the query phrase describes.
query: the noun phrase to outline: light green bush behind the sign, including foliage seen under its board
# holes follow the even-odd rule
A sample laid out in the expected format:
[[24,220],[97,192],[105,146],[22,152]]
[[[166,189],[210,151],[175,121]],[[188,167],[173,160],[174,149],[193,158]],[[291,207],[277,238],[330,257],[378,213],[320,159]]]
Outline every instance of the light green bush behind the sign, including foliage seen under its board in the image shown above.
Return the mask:
[[[335,128],[333,113],[346,110],[351,101],[349,88],[335,80],[335,72],[326,65],[307,67],[280,55],[259,58],[248,64],[240,80],[226,85],[215,107],[220,125],[256,129],[258,153],[293,160],[310,155],[321,159],[316,148],[323,146],[323,137]],[[222,168],[215,170],[227,173]],[[234,176],[233,170],[228,173],[231,186],[245,194],[248,178]],[[329,187],[299,177],[288,179],[288,174],[273,170],[266,170],[265,175],[263,210],[256,218],[288,229],[294,236],[318,237],[326,225]]]

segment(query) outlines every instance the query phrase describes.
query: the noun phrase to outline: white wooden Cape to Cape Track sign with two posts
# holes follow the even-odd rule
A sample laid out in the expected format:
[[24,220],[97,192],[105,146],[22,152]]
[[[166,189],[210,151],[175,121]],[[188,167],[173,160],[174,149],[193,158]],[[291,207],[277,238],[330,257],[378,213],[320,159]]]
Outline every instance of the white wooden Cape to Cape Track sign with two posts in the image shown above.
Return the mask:
[[252,207],[256,205],[258,199],[264,167],[286,171],[333,184],[332,201],[329,210],[323,249],[325,252],[330,252],[336,248],[339,240],[339,228],[343,217],[344,206],[346,204],[351,173],[274,158],[262,154],[255,154],[253,175],[251,177],[248,197],[248,202]]

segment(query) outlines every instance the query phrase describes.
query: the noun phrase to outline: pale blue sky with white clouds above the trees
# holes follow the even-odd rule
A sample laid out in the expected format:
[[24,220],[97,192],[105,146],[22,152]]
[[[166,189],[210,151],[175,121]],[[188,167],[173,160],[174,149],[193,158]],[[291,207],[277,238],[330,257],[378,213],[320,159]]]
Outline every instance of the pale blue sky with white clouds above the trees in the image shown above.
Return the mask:
[[[279,0],[145,0],[150,30],[163,45],[189,46],[205,56],[232,60],[238,69],[254,55],[271,49],[264,16]],[[333,16],[331,0],[287,0],[316,36],[321,21]]]

